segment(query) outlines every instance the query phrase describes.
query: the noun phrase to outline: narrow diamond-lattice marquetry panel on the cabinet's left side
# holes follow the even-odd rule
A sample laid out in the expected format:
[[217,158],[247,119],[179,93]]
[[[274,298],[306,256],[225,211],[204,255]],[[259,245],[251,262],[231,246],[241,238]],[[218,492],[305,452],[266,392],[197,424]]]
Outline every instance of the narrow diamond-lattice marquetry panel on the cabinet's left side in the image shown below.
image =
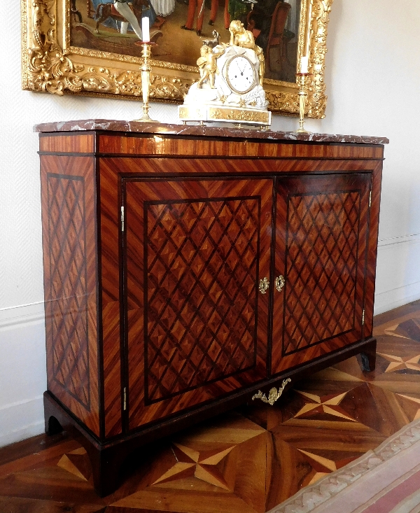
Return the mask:
[[53,376],[88,407],[84,181],[48,176]]

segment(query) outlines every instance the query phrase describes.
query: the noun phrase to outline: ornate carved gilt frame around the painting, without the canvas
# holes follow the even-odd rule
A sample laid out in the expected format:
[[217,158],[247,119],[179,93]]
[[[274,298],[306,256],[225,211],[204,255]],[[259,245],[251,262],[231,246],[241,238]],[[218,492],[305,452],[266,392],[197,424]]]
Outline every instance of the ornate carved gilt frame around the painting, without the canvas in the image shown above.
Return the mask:
[[[324,118],[325,53],[332,0],[302,0],[297,63],[309,55],[307,117]],[[22,89],[141,100],[141,57],[70,44],[71,0],[21,0]],[[196,66],[151,60],[150,98],[181,103],[200,78]],[[299,64],[298,66],[299,67]],[[299,69],[297,69],[299,71]],[[297,82],[264,80],[269,110],[298,115]]]

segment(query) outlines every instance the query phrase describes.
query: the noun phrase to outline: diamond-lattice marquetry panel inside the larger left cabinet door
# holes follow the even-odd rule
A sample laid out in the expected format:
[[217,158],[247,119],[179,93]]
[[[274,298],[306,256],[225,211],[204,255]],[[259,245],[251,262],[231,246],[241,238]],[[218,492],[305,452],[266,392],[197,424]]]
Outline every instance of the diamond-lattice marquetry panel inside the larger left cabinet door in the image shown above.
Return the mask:
[[255,365],[259,201],[146,208],[146,394],[153,402]]

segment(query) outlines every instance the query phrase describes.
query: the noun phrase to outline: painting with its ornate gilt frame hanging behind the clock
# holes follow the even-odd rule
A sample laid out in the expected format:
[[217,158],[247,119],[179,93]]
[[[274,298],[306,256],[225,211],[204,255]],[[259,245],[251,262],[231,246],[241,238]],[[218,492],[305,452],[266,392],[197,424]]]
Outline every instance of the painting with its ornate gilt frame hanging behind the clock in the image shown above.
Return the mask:
[[22,0],[22,85],[55,94],[141,97],[142,20],[151,31],[151,100],[181,102],[200,78],[203,41],[228,43],[231,20],[265,55],[269,109],[299,111],[296,73],[309,56],[307,115],[323,118],[332,0]]

